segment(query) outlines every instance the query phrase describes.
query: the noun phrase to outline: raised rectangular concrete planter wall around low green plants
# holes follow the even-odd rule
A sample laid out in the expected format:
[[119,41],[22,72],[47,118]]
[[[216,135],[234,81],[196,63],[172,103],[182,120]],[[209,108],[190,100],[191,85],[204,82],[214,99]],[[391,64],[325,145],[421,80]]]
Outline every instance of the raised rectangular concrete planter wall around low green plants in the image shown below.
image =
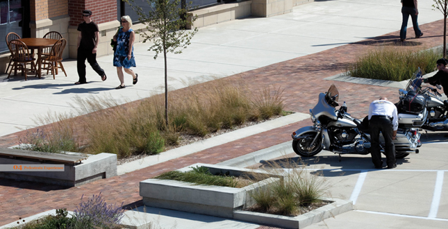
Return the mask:
[[[254,173],[249,169],[215,164],[194,164],[191,167],[195,166],[207,167],[213,174],[228,173],[230,176],[239,176],[244,172]],[[179,170],[187,171],[188,169],[190,167]],[[283,179],[279,176],[271,176],[271,178],[242,188],[194,185],[176,180],[147,179],[140,182],[140,196],[143,198],[144,205],[151,207],[233,218],[235,210],[242,210],[244,207],[254,204],[250,196],[251,192],[265,188],[270,183],[281,182]]]

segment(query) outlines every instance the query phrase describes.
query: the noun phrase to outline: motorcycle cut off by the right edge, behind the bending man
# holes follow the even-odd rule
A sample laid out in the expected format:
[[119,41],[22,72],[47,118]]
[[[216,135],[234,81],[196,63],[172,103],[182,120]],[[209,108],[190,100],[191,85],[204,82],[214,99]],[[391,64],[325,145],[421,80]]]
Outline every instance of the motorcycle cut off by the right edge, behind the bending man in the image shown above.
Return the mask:
[[[441,89],[440,85],[435,87]],[[442,95],[436,88],[422,87],[420,69],[410,78],[406,88],[399,90],[399,94],[399,126],[432,131],[448,130],[448,101],[441,99]]]

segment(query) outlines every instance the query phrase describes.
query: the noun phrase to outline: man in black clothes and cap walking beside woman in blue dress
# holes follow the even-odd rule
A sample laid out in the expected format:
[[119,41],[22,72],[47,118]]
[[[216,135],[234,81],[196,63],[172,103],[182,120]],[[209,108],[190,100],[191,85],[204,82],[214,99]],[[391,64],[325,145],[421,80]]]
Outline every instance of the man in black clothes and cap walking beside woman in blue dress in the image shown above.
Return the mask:
[[101,80],[106,80],[106,73],[97,62],[97,48],[99,44],[99,29],[97,24],[90,18],[92,11],[83,10],[84,22],[78,25],[78,55],[76,58],[79,80],[75,84],[87,83],[85,79],[85,59],[90,66],[101,76]]

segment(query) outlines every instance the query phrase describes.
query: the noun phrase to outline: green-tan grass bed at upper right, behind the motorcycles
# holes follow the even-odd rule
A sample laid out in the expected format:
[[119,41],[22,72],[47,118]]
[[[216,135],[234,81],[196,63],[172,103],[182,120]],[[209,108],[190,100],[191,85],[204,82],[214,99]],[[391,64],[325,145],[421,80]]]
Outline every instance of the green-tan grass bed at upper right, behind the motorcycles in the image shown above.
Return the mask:
[[442,58],[442,51],[413,51],[398,47],[381,47],[360,56],[354,65],[347,67],[347,76],[380,80],[401,81],[409,79],[418,67],[431,72],[435,61]]

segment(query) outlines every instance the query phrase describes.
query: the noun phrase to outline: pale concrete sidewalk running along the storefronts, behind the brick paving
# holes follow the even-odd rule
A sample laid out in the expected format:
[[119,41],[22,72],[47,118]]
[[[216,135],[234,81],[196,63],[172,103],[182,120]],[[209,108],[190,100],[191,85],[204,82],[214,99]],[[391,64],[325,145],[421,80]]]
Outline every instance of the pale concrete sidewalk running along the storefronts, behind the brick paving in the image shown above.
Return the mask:
[[[431,10],[431,4],[431,0],[419,1],[420,24],[442,18]],[[201,28],[188,49],[181,54],[169,54],[169,88],[179,89],[397,31],[401,26],[400,7],[388,0],[315,1],[297,6],[286,15],[239,19]],[[412,29],[408,30],[408,37],[412,33]],[[138,84],[132,85],[131,76],[126,75],[125,90],[115,90],[119,80],[112,56],[97,58],[107,73],[105,82],[88,66],[90,83],[74,85],[78,80],[75,60],[63,62],[68,76],[60,73],[56,80],[50,75],[41,79],[29,77],[27,81],[23,76],[6,79],[3,74],[0,136],[40,126],[35,117],[48,112],[73,112],[72,105],[79,106],[73,100],[75,96],[81,99],[106,96],[125,103],[162,93],[163,56],[154,60],[154,53],[147,51],[150,45],[135,44],[138,67],[134,70],[140,77]]]

